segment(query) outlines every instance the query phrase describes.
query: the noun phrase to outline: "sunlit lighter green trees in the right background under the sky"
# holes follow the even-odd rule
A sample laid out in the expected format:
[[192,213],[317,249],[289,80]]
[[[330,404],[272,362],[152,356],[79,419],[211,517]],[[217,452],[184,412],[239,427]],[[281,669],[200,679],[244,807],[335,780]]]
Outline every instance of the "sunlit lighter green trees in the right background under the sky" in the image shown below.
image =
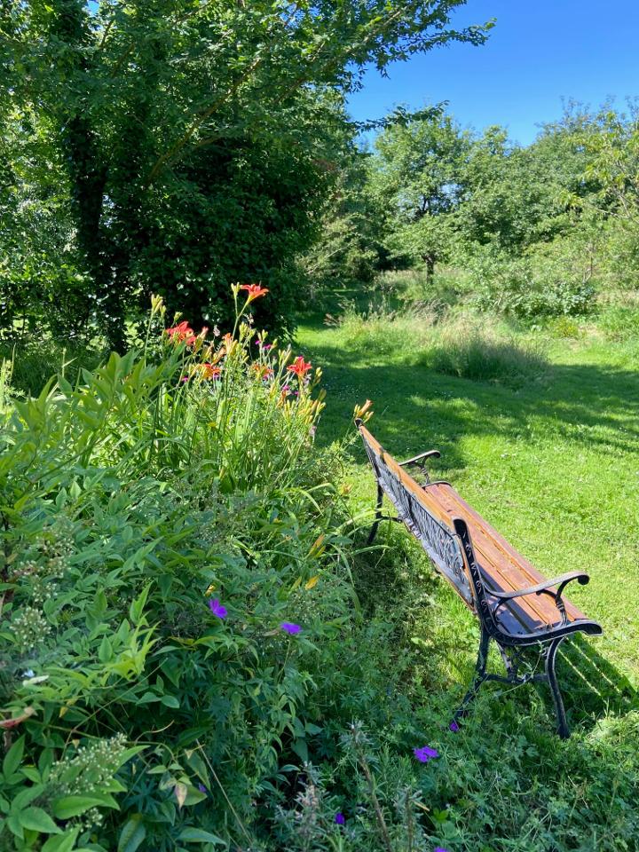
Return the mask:
[[597,296],[636,289],[635,109],[571,105],[525,147],[437,108],[383,129],[343,165],[306,271],[321,293],[410,268],[430,296],[522,319],[590,312]]

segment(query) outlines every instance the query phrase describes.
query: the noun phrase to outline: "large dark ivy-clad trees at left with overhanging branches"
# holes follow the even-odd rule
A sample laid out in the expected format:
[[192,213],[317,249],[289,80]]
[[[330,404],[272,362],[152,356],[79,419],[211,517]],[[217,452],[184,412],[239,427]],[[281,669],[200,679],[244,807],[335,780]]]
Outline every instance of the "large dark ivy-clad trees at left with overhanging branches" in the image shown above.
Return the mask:
[[464,0],[0,4],[0,325],[106,335],[151,292],[193,323],[231,318],[233,281],[276,296],[316,239],[362,67],[450,40]]

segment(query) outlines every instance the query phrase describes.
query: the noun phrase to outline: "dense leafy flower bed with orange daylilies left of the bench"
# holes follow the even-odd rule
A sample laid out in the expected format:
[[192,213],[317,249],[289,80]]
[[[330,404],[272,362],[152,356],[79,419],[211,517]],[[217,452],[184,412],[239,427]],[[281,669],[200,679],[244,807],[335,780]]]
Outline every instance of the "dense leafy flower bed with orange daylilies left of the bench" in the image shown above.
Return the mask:
[[153,330],[3,415],[3,848],[216,845],[319,732],[338,501],[311,366],[255,337]]

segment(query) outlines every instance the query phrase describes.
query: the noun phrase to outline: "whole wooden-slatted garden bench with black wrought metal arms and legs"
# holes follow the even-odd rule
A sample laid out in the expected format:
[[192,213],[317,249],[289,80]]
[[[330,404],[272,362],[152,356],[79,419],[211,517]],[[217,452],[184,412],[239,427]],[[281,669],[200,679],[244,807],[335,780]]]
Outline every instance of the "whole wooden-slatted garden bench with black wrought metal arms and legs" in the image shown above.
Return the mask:
[[[485,681],[511,685],[541,681],[547,682],[552,692],[559,736],[568,738],[570,730],[555,671],[556,652],[568,635],[578,632],[602,634],[596,621],[586,618],[564,598],[566,585],[578,580],[584,586],[588,583],[588,574],[571,571],[546,580],[461,499],[449,482],[430,482],[426,464],[430,458],[438,457],[437,450],[398,462],[375,440],[361,420],[356,424],[377,480],[377,508],[369,544],[375,540],[377,528],[384,519],[385,493],[398,513],[398,517],[388,519],[408,527],[438,571],[479,620],[476,674],[454,714],[454,722],[467,714],[470,702]],[[406,468],[413,466],[421,469],[426,480],[424,485],[406,472]],[[486,671],[491,640],[501,652],[506,675]],[[534,646],[544,659],[544,672],[520,674],[525,649]]]

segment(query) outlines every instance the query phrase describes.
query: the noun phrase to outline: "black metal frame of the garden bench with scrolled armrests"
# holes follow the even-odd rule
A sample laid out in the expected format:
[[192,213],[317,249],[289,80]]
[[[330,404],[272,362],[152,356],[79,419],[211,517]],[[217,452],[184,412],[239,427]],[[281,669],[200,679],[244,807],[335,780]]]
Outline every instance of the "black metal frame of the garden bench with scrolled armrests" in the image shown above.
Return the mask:
[[[355,421],[358,429],[361,432],[363,425],[361,420]],[[455,590],[460,594],[461,598],[475,611],[479,620],[480,639],[479,650],[477,652],[477,663],[475,666],[475,676],[470,685],[469,690],[461,701],[461,705],[454,712],[454,722],[458,722],[463,716],[469,712],[469,706],[477,696],[477,692],[481,685],[488,681],[497,681],[509,684],[510,686],[521,686],[530,682],[546,682],[550,688],[555,706],[557,733],[563,739],[570,737],[570,728],[566,719],[564,700],[559,689],[559,683],[556,676],[556,654],[559,646],[567,636],[575,633],[586,633],[588,635],[601,635],[602,627],[590,619],[575,619],[570,621],[567,617],[564,606],[564,588],[572,580],[577,580],[580,585],[585,586],[589,577],[588,574],[581,571],[571,571],[555,577],[552,580],[545,580],[536,586],[516,589],[514,591],[502,592],[488,588],[482,578],[479,564],[475,556],[475,550],[470,540],[469,528],[466,521],[461,517],[453,517],[454,528],[447,528],[436,517],[430,515],[427,509],[420,506],[423,513],[429,516],[430,520],[427,524],[420,523],[423,518],[420,517],[420,512],[411,506],[411,500],[407,499],[412,495],[407,492],[405,485],[398,482],[400,489],[405,493],[392,493],[389,486],[389,478],[385,477],[383,471],[377,466],[375,454],[373,454],[367,444],[367,439],[362,434],[364,445],[367,449],[367,455],[371,465],[375,471],[375,479],[377,482],[377,505],[375,509],[375,523],[373,524],[368,536],[368,544],[372,544],[375,540],[375,535],[382,520],[398,521],[405,524],[411,533],[420,540],[422,547],[427,551],[431,560],[436,567],[446,574],[446,578],[452,582]],[[426,462],[430,458],[439,457],[438,450],[428,450],[425,453],[413,456],[406,461],[396,462],[400,468],[416,466],[422,470],[422,474],[426,479],[426,485],[438,485],[445,483],[445,480],[436,480],[430,482]],[[393,460],[395,461],[395,460]],[[449,483],[446,483],[449,485]],[[384,516],[382,514],[383,495],[387,494],[390,501],[398,509],[398,517]],[[417,516],[417,517],[416,517]],[[435,535],[433,536],[433,530]],[[446,540],[447,539],[447,540]],[[445,546],[443,543],[445,542]],[[446,558],[456,552],[456,545],[461,548],[463,561],[468,568],[470,578],[470,591],[472,601],[469,597],[462,593],[460,584],[456,582],[454,576],[459,572],[459,564],[454,566],[446,564]],[[446,570],[447,569],[447,570]],[[556,590],[553,590],[555,589]],[[551,597],[556,605],[558,613],[558,621],[555,625],[547,625],[540,627],[533,633],[528,634],[510,634],[506,631],[498,620],[498,613],[504,604],[509,601],[525,595],[547,595]],[[494,675],[487,671],[488,651],[491,641],[496,643],[501,659],[503,660],[506,669],[506,675]],[[540,654],[544,659],[544,672],[533,674],[520,674],[519,669],[522,664],[522,652],[526,648],[537,646]]]

